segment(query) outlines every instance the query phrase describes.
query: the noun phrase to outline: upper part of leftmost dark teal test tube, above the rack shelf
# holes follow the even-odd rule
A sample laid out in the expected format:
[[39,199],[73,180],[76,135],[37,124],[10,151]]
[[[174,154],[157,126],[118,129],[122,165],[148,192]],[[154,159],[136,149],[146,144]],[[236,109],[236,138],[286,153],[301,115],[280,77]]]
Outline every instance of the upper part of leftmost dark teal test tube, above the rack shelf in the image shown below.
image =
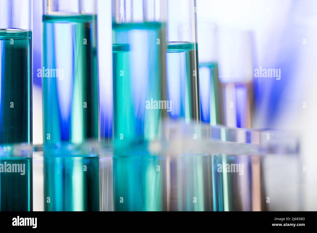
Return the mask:
[[32,143],[31,1],[0,2],[0,144]]

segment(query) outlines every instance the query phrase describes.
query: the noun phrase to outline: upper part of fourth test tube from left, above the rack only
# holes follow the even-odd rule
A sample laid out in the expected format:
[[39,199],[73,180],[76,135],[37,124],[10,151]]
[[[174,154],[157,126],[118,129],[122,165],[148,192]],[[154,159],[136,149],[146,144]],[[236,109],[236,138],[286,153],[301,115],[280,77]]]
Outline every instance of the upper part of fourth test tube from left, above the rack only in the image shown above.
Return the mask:
[[200,122],[196,0],[167,1],[169,116]]

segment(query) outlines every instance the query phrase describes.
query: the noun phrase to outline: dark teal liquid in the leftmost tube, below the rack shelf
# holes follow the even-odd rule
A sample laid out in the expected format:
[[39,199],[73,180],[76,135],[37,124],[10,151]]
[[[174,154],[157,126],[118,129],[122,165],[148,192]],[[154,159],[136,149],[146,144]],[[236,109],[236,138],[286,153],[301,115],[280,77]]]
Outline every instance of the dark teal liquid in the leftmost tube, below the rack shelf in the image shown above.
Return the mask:
[[[3,172],[0,167],[0,210],[1,211],[32,211],[32,158],[0,158],[3,166],[22,165],[21,172]],[[8,170],[7,170],[8,171]]]

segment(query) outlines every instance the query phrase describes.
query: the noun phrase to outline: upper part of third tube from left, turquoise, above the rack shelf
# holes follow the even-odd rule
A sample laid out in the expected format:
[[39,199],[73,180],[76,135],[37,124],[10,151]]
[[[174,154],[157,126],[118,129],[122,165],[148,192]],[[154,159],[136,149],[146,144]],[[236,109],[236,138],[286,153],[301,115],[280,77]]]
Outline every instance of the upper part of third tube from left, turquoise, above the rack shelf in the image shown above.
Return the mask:
[[128,146],[155,139],[159,133],[165,0],[112,3],[113,138],[116,146]]

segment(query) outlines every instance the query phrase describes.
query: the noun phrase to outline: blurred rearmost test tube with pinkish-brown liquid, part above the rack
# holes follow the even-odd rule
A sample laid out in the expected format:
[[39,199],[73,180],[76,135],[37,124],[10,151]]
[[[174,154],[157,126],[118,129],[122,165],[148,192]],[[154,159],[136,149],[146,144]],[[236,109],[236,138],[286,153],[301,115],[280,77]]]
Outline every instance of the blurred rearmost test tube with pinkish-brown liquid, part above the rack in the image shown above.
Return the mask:
[[217,31],[221,123],[230,127],[251,127],[253,105],[253,38],[250,31]]

